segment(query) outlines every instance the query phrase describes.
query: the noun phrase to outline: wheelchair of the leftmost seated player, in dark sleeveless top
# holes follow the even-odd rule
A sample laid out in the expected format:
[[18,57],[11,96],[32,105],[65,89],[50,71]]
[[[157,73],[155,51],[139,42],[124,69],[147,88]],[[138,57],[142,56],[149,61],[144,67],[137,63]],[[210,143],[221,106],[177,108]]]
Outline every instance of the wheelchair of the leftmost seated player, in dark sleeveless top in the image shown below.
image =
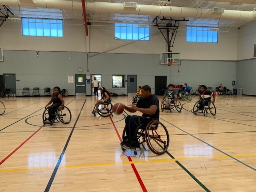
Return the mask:
[[[48,120],[49,114],[48,114],[48,109],[50,106],[48,106],[44,112],[43,112],[43,124],[47,124],[45,121]],[[54,112],[54,120],[52,122],[49,122],[48,124],[53,124],[55,121],[57,122],[62,122],[63,124],[68,124],[71,121],[71,112],[69,108],[66,106],[62,107],[62,110],[59,110],[59,108]]]

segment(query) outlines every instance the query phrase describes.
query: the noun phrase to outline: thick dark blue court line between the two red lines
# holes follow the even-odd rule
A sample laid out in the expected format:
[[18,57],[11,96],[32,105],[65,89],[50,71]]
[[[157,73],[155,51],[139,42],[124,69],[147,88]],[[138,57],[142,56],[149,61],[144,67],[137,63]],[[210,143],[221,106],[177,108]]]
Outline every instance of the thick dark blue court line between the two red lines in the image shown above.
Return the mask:
[[[84,104],[85,104],[85,102],[86,102],[86,100],[84,101]],[[53,170],[53,172],[52,172],[52,176],[50,177],[50,180],[49,180],[49,182],[48,182],[48,184],[47,184],[47,186],[46,186],[44,192],[48,192],[48,191],[50,190],[50,187],[52,186],[52,182],[53,182],[53,180],[54,180],[54,178],[55,178],[55,176],[56,176],[56,173],[57,173],[57,171],[58,171],[58,168],[59,168],[59,166],[60,166],[60,163],[61,163],[61,161],[62,161],[62,158],[63,158],[63,156],[64,156],[64,153],[66,152],[66,148],[68,147],[68,143],[69,143],[70,138],[71,138],[71,136],[72,136],[72,134],[73,134],[73,132],[74,132],[74,129],[75,129],[75,127],[76,127],[76,123],[78,122],[79,116],[80,116],[80,114],[81,114],[81,112],[82,112],[82,109],[84,108],[84,104],[83,104],[83,106],[82,106],[82,108],[81,108],[81,110],[80,110],[80,113],[78,114],[78,116],[77,116],[77,118],[76,118],[76,122],[75,122],[75,124],[74,124],[74,126],[73,126],[73,128],[72,128],[72,130],[71,130],[71,132],[70,132],[70,134],[69,134],[69,136],[68,136],[68,140],[66,141],[66,144],[65,144],[65,146],[64,146],[64,148],[63,148],[63,150],[62,150],[62,153],[60,154],[60,158],[58,159],[58,162],[57,162],[57,164],[56,164],[56,166],[55,166],[55,168],[54,168],[54,170]]]

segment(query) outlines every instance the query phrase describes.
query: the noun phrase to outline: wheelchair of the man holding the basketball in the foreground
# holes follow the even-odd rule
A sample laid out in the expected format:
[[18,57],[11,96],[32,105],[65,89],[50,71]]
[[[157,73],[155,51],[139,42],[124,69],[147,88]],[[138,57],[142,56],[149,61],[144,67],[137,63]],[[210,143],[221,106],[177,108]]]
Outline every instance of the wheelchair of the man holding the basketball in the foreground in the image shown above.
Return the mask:
[[[164,124],[158,119],[151,120],[147,125],[141,124],[140,116],[138,116],[139,126],[136,129],[132,142],[137,141],[138,145],[135,147],[126,147],[123,142],[120,143],[122,151],[132,150],[134,155],[137,155],[137,151],[152,151],[154,154],[160,155],[166,152],[168,149],[170,138],[168,131]],[[125,129],[123,130],[122,140],[127,139]],[[148,149],[144,146],[146,142]],[[142,148],[141,148],[142,147]]]

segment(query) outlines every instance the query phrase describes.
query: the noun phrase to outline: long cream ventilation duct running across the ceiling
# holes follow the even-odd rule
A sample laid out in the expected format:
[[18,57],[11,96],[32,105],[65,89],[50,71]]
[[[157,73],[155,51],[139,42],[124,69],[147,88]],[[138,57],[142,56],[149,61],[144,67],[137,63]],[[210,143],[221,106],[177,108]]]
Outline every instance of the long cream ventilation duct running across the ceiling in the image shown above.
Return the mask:
[[[243,0],[246,1],[246,0]],[[248,3],[255,3],[255,0],[247,0]],[[229,0],[234,2],[234,0]],[[238,0],[239,2],[239,0]],[[8,6],[30,6],[41,8],[56,8],[68,10],[82,10],[80,2],[68,0],[36,0],[28,3],[21,3],[18,0],[1,0],[1,4]],[[256,4],[256,3],[255,3]],[[188,7],[173,7],[173,6],[155,6],[137,4],[135,9],[126,9],[122,3],[109,2],[86,2],[86,11],[96,13],[112,13],[112,14],[134,14],[134,15],[151,15],[151,16],[169,16],[180,18],[214,18],[214,19],[230,19],[230,20],[256,20],[255,11],[239,11],[239,10],[224,10],[222,14],[210,14],[210,9],[203,8],[188,8]]]

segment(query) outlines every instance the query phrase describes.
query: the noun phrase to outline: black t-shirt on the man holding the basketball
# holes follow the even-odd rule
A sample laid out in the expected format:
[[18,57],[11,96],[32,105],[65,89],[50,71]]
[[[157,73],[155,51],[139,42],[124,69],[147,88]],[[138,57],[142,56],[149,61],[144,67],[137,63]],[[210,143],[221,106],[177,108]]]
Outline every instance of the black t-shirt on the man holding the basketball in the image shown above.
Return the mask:
[[140,100],[138,100],[136,106],[138,108],[150,108],[150,106],[152,105],[156,105],[157,106],[157,110],[155,112],[155,114],[153,115],[148,115],[148,114],[142,114],[142,117],[150,117],[152,119],[159,119],[159,100],[157,98],[157,96],[155,95],[151,95],[149,98],[141,98]]

